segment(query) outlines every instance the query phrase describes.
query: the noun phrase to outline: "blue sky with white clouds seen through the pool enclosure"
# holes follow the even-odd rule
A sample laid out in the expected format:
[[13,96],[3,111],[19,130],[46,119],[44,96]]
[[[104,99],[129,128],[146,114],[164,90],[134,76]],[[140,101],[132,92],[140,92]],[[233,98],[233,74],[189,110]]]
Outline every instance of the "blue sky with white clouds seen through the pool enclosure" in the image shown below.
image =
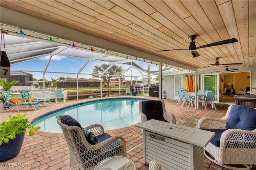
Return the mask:
[[[97,55],[97,54],[95,54],[95,55]],[[42,79],[43,78],[42,73],[32,72],[32,71],[43,71],[45,69],[48,58],[49,58],[49,56],[46,56],[46,57],[41,57],[39,59],[34,59],[34,60],[14,64],[14,65],[11,65],[11,70],[23,70],[27,73],[33,74],[33,78]],[[82,65],[84,65],[84,63],[86,61],[87,61],[87,59],[55,55],[52,57],[46,71],[65,72],[65,73],[46,73],[45,78],[49,81],[51,80],[51,78],[58,79],[59,77],[63,77],[63,76],[65,78],[66,77],[76,78],[76,73],[80,70],[80,68],[82,67]],[[134,62],[137,65],[139,65],[140,67],[142,67],[144,69],[148,69],[149,63],[146,63],[143,61],[134,61]],[[92,73],[92,70],[95,65],[102,65],[103,63],[108,64],[108,62],[90,61],[86,65],[86,67],[84,67],[84,69],[82,70],[81,73],[90,74],[90,73]],[[126,69],[128,69],[130,66],[122,64],[122,67],[124,68],[124,71],[126,71]],[[151,71],[158,70],[158,66],[151,64],[150,70]],[[124,75],[131,76],[131,72],[132,72],[133,77],[141,76],[141,73],[134,68],[132,70],[129,69],[128,71],[126,71],[124,73]],[[71,74],[71,73],[75,73],[75,74]],[[145,75],[145,73],[144,73],[144,75]],[[80,77],[86,78],[86,79],[92,78],[91,75],[80,75],[79,78]],[[126,79],[130,80],[130,77],[126,77]],[[142,79],[142,77],[138,77],[138,79]]]

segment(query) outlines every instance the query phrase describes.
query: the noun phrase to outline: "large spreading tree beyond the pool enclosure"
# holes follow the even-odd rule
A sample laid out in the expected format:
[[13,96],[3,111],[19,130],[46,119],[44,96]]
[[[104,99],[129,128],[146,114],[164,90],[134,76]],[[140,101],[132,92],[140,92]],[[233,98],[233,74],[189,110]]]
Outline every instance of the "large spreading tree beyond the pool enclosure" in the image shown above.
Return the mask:
[[[92,78],[100,78],[100,75],[110,66],[111,64],[102,64],[101,66],[95,65],[94,69],[92,70]],[[109,83],[112,80],[119,81],[118,76],[113,75],[121,75],[124,72],[124,69],[122,66],[113,65],[103,76],[102,80],[107,83],[107,86],[109,87]],[[120,81],[123,81],[125,78],[120,77]]]

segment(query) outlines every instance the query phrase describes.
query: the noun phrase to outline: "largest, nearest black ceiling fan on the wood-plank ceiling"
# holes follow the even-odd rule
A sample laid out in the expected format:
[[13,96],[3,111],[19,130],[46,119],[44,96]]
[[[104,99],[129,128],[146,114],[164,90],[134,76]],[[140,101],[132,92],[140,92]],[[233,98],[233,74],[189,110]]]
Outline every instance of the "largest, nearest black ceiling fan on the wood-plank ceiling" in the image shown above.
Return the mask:
[[215,45],[222,45],[222,44],[227,44],[227,43],[238,42],[238,40],[236,40],[236,38],[231,38],[231,39],[228,39],[228,40],[223,40],[223,41],[220,41],[220,42],[209,43],[209,44],[206,44],[206,45],[202,45],[200,47],[196,47],[195,42],[194,42],[196,37],[197,37],[197,35],[192,35],[192,36],[188,37],[188,39],[191,40],[190,45],[188,46],[188,49],[166,49],[166,50],[159,50],[159,51],[188,50],[188,51],[190,51],[192,53],[193,57],[198,57],[199,54],[196,51],[196,49],[204,48],[204,47],[212,47],[212,46],[215,46]]

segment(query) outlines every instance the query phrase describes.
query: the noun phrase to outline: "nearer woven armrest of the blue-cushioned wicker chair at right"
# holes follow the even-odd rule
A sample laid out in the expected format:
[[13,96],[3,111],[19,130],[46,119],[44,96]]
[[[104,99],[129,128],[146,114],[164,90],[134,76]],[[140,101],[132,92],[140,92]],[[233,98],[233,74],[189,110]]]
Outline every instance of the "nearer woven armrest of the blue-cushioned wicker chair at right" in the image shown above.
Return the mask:
[[256,147],[256,129],[228,129],[220,137],[220,149],[252,147]]

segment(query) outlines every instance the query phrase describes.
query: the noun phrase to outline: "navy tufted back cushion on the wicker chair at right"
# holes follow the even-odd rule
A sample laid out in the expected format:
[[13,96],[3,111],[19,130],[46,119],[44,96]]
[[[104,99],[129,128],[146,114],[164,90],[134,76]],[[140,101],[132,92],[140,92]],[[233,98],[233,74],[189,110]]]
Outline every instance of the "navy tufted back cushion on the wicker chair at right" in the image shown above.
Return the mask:
[[256,129],[256,109],[240,105],[232,106],[226,124],[226,129],[230,128],[242,130]]

